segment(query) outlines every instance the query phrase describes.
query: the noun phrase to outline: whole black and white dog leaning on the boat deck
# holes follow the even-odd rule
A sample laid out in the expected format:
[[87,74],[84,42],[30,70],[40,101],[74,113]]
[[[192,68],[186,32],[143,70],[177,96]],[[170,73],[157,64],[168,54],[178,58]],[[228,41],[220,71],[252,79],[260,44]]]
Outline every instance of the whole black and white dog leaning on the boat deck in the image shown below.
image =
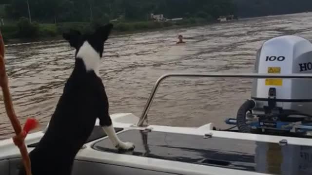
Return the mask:
[[[75,68],[45,135],[29,154],[33,175],[70,175],[74,158],[100,121],[105,133],[118,149],[134,149],[134,144],[118,139],[109,116],[104,85],[99,78],[99,62],[112,24],[99,27],[93,34],[78,31],[63,34],[76,49]],[[24,171],[20,171],[24,174]]]

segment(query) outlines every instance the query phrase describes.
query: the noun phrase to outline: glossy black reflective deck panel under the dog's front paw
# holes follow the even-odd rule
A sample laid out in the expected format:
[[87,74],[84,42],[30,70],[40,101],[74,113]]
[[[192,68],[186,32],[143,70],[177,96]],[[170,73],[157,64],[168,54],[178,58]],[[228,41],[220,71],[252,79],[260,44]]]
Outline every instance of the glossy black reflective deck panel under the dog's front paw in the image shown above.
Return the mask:
[[275,175],[310,175],[312,147],[280,146],[276,143],[210,138],[166,132],[125,131],[121,140],[131,140],[136,149],[118,152],[108,139],[93,148],[118,154],[131,154],[165,160],[218,166]]

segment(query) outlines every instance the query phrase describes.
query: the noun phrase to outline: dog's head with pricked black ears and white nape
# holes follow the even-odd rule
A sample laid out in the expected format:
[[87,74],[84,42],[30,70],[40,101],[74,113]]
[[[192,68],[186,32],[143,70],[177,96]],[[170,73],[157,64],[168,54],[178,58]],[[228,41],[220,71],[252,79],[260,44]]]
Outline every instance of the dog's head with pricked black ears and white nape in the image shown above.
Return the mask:
[[63,38],[76,49],[75,57],[83,60],[86,70],[96,70],[104,51],[104,43],[112,29],[113,24],[107,24],[98,27],[94,33],[84,35],[79,31],[71,30],[69,33],[64,33]]

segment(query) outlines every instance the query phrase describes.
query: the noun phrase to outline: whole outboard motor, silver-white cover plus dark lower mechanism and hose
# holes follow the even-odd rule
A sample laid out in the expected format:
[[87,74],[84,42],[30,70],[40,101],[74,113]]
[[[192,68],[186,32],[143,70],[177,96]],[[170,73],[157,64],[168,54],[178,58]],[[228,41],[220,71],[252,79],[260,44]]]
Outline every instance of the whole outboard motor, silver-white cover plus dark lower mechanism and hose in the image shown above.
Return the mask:
[[[312,43],[294,35],[264,42],[256,55],[255,73],[312,73]],[[252,99],[239,108],[236,124],[245,133],[307,136],[312,134],[311,117],[312,80],[254,79]]]

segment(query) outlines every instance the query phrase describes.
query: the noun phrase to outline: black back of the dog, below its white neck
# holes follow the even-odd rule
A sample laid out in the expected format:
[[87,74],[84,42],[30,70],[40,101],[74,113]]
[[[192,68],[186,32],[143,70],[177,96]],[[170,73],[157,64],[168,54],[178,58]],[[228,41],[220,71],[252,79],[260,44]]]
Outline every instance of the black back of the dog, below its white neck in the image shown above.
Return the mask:
[[[93,131],[101,111],[108,110],[104,86],[94,71],[76,60],[45,135],[30,153],[33,175],[70,172],[74,158]],[[103,102],[106,102],[103,104]],[[67,173],[66,173],[67,174]]]

